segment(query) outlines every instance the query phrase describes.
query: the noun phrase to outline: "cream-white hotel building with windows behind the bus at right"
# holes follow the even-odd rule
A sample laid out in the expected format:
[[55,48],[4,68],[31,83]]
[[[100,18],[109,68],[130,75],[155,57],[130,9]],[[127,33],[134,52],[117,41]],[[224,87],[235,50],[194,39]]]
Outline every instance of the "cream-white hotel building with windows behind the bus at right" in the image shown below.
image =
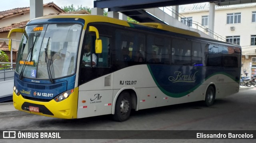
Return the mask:
[[[209,24],[209,5],[210,3],[205,2],[179,6],[180,21],[192,28],[197,28],[196,24],[192,23],[198,22],[206,26],[206,32]],[[256,3],[216,5],[213,31],[227,42],[242,47],[241,73],[245,76],[246,71],[248,76],[256,77]]]

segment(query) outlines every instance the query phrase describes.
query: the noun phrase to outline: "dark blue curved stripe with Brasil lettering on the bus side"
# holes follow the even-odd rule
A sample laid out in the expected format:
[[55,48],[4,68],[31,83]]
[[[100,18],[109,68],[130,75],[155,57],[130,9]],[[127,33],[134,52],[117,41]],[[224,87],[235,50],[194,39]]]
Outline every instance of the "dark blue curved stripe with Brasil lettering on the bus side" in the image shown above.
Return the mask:
[[238,68],[220,70],[220,67],[148,65],[148,69],[158,88],[166,95],[175,98],[188,95],[206,79],[216,74],[227,75],[239,84],[238,77],[230,76],[239,75]]

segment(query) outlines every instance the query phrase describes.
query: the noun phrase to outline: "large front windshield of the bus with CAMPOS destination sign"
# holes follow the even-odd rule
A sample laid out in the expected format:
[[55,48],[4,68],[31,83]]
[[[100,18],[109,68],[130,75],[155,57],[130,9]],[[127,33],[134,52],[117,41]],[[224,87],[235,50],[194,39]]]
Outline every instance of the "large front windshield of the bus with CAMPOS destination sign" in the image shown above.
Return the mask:
[[74,74],[81,31],[79,24],[26,26],[17,56],[20,78],[52,81]]

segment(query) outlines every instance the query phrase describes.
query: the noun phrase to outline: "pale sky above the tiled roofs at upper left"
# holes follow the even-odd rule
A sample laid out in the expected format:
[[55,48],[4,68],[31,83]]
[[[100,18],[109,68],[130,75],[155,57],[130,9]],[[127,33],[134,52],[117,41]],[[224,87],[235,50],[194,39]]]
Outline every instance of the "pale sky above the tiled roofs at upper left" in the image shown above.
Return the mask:
[[[71,6],[71,4],[74,5],[74,8],[81,5],[82,7],[88,6],[89,8],[93,8],[93,1],[94,0],[43,0],[43,4],[53,2],[60,8],[64,6]],[[0,4],[0,12],[23,7],[30,7],[30,0],[6,0]]]

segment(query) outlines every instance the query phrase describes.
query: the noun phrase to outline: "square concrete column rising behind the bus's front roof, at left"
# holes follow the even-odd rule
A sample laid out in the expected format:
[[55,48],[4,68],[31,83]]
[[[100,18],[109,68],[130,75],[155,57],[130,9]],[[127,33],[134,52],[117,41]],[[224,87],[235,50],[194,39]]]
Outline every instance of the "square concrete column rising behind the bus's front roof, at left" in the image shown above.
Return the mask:
[[30,0],[30,20],[44,16],[43,0]]

